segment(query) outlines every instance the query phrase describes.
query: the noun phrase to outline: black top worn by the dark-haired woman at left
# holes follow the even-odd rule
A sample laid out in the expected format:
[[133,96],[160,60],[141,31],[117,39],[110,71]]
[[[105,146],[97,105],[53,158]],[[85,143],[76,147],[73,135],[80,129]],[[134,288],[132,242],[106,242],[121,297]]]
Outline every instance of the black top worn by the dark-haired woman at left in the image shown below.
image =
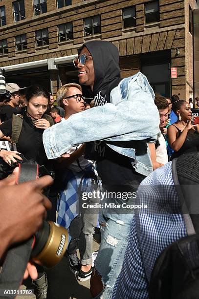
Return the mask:
[[[11,136],[12,119],[0,125],[0,130],[5,136]],[[36,128],[30,117],[23,115],[22,130],[17,143],[17,150],[24,155],[27,160],[34,160],[39,165],[49,166],[43,145],[44,129]],[[48,167],[49,168],[49,167]]]

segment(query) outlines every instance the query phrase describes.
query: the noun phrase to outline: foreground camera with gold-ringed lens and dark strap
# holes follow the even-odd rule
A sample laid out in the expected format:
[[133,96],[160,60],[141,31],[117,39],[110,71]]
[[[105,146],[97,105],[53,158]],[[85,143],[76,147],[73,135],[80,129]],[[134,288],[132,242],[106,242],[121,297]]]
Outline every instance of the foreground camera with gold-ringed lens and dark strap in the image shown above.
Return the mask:
[[[32,163],[32,161],[31,163],[27,161],[18,165],[19,172],[16,184],[35,180],[39,177],[39,165]],[[30,259],[40,265],[52,267],[65,255],[67,246],[67,229],[52,221],[44,220],[42,227],[35,235],[25,242],[15,244],[6,252],[5,259],[0,264],[0,289],[8,287],[19,289]],[[16,269],[16,271],[13,272],[13,269]]]

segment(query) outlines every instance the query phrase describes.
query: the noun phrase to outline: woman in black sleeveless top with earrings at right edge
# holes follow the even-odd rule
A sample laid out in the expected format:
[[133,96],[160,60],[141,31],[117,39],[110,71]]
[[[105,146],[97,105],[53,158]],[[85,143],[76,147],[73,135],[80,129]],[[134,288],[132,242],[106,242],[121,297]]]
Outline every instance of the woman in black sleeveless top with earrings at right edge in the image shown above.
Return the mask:
[[199,151],[199,125],[192,125],[190,104],[184,100],[174,100],[172,109],[177,115],[177,122],[167,129],[168,141],[175,152],[171,160],[187,152]]

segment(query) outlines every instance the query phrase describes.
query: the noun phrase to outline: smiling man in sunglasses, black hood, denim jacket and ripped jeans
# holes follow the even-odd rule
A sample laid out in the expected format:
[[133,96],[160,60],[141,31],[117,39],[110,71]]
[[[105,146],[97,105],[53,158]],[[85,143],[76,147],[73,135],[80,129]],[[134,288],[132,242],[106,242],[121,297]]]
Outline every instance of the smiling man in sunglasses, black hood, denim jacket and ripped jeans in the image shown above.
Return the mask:
[[123,195],[153,171],[147,143],[159,137],[159,114],[143,74],[120,78],[119,53],[112,43],[88,42],[78,54],[73,63],[79,83],[90,87],[95,107],[45,130],[43,140],[48,159],[66,157],[72,145],[94,141],[90,158],[97,161],[103,191],[122,194],[101,201],[102,241],[90,281],[92,296],[108,299],[122,269],[133,219],[133,210],[122,207],[133,203],[133,196]]

